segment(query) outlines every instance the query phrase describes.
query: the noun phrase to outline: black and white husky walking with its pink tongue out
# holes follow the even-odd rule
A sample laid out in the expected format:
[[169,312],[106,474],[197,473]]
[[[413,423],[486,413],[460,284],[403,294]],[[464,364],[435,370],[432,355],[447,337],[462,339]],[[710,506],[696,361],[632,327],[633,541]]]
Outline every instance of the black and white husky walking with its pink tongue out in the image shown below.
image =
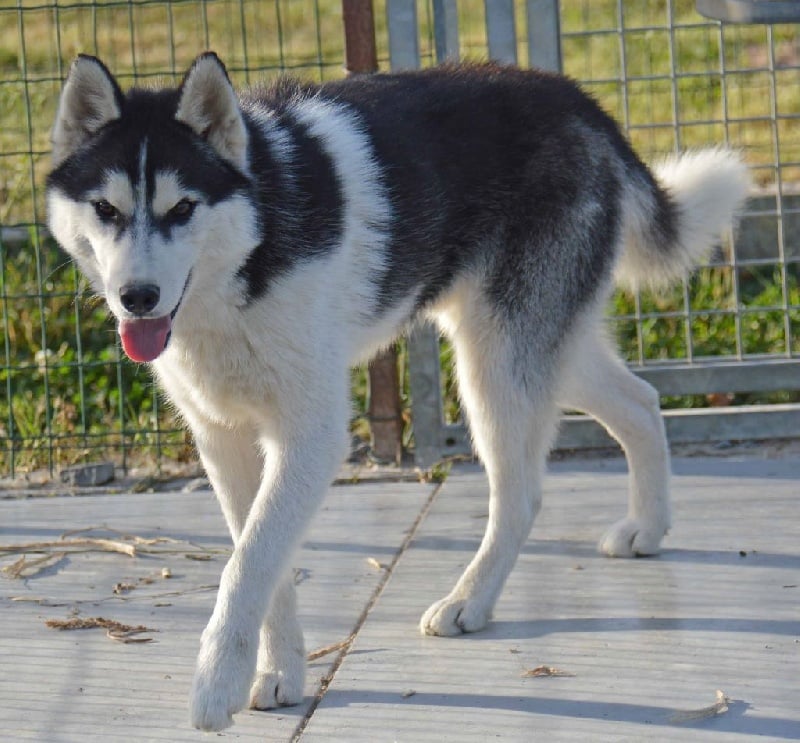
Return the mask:
[[605,340],[603,309],[615,281],[664,284],[713,247],[747,193],[735,154],[653,174],[590,97],[542,72],[237,93],[207,53],[177,88],[127,93],[78,58],[53,159],[50,228],[191,428],[233,536],[195,726],[301,701],[289,561],[347,451],[350,365],[415,318],[454,345],[490,486],[480,549],[423,633],[486,625],[539,509],[559,407],[598,418],[628,457],[628,514],[601,551],[658,551],[658,396]]

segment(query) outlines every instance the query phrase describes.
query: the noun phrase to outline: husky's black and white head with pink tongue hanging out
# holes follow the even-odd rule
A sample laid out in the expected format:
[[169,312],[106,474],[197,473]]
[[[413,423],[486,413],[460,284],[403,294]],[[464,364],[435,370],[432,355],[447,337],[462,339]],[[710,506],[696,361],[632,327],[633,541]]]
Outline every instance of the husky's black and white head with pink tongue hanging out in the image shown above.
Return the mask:
[[247,125],[225,68],[204,54],[179,87],[124,94],[80,56],[52,143],[50,230],[105,296],[126,353],[152,361],[187,294],[257,239]]

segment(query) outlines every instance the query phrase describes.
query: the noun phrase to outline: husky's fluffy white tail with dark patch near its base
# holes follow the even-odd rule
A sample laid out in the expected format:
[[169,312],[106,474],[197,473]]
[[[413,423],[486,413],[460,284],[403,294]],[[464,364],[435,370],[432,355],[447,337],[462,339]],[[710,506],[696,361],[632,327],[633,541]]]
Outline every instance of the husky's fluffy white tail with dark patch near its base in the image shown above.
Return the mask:
[[727,149],[687,152],[635,178],[623,197],[624,249],[617,283],[659,288],[705,260],[733,226],[750,188],[747,167]]

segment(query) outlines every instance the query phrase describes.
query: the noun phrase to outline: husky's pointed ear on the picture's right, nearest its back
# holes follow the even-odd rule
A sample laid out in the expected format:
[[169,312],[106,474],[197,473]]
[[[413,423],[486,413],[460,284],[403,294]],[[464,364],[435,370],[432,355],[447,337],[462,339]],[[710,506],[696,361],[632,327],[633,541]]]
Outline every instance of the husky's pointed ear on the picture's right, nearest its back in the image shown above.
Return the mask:
[[201,54],[183,78],[175,118],[247,172],[247,127],[225,65],[214,52]]

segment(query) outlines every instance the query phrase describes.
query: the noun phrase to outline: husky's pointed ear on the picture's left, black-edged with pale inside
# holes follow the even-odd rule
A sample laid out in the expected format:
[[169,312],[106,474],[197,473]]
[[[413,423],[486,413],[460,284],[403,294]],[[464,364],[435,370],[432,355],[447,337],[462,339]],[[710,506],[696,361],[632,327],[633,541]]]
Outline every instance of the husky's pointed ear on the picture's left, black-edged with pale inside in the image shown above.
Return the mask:
[[89,137],[122,115],[124,96],[108,68],[96,57],[81,54],[72,63],[53,125],[53,167]]

